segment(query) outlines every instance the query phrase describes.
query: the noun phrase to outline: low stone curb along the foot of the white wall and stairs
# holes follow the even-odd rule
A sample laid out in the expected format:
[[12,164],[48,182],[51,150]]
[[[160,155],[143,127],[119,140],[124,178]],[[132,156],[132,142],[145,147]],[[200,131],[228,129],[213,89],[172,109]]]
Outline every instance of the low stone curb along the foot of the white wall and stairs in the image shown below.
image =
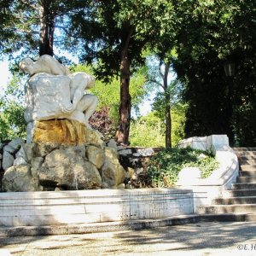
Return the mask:
[[[162,226],[172,226],[180,224],[193,224],[208,221],[256,221],[251,218],[251,214],[230,213],[230,214],[207,214],[207,215],[182,215],[172,218],[143,219],[124,222],[108,222],[93,224],[70,224],[54,226],[17,226],[0,227],[0,238],[11,236],[55,236],[85,233],[102,233],[123,230],[143,230]],[[253,215],[254,216],[254,215]],[[254,216],[255,217],[255,216]]]

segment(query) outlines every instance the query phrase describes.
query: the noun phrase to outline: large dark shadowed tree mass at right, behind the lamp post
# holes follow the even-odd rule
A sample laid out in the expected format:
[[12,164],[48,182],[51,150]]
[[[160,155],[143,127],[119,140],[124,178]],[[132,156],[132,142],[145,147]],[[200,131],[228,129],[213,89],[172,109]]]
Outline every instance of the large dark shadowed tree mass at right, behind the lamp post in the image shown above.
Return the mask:
[[[242,114],[236,109],[241,109],[242,99],[253,106],[249,95],[255,87],[255,2],[183,2],[187,2],[187,8],[184,9],[184,4],[179,9],[184,19],[177,35],[178,56],[174,68],[187,85],[186,136],[225,133],[233,144],[234,133],[240,136],[245,127],[237,125],[246,118],[242,117],[245,112]],[[232,83],[224,74],[225,61],[236,65]],[[255,119],[248,119],[248,122],[255,122]],[[251,132],[247,135],[255,142]]]

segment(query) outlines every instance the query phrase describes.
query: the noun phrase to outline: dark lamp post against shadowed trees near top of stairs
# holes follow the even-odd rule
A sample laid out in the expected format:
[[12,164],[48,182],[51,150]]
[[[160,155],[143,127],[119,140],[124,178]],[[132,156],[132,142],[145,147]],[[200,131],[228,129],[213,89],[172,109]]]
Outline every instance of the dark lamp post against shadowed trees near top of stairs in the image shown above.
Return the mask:
[[227,96],[228,96],[228,109],[227,109],[227,113],[228,113],[228,118],[229,118],[229,127],[228,127],[228,137],[230,138],[230,146],[234,146],[234,139],[235,139],[235,135],[234,135],[234,131],[233,131],[233,127],[232,127],[232,114],[233,114],[233,96],[232,96],[232,81],[233,81],[233,77],[235,76],[235,63],[231,62],[231,61],[226,61],[224,63],[224,72],[226,77],[228,78],[229,82],[228,82],[228,91],[227,91]]

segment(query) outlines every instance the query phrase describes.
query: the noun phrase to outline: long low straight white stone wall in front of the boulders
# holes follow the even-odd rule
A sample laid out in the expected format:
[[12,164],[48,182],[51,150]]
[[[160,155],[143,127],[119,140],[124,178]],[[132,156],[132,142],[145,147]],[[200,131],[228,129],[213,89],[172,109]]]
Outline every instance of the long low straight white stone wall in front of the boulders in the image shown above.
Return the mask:
[[0,225],[86,224],[166,218],[194,211],[183,189],[99,189],[0,193]]

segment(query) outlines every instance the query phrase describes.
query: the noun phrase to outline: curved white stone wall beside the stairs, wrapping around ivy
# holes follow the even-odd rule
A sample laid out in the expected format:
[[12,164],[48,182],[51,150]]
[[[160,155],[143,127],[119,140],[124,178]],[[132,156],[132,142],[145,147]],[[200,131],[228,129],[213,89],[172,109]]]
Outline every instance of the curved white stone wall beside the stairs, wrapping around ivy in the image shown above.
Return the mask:
[[229,146],[226,135],[212,135],[208,137],[191,137],[179,143],[179,147],[191,147],[201,150],[212,150],[219,162],[218,170],[207,178],[193,177],[192,175],[179,179],[177,187],[192,189],[196,207],[210,205],[212,200],[224,195],[225,189],[230,189],[239,175],[239,163],[235,151]]

